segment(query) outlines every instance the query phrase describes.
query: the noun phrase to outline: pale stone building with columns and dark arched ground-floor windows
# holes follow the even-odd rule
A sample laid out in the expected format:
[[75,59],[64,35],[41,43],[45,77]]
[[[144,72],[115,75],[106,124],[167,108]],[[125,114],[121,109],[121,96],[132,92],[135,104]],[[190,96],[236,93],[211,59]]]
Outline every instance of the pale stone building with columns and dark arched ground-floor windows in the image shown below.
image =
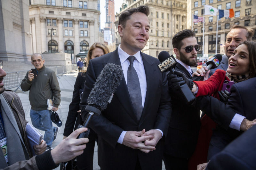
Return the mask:
[[33,53],[88,52],[99,40],[97,0],[31,0],[29,19]]

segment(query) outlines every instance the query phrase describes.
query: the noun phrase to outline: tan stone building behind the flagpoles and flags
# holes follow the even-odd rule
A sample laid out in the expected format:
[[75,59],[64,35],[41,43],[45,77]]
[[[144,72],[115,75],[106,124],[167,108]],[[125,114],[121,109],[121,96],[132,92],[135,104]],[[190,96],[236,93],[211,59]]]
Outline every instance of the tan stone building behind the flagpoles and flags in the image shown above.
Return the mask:
[[[217,53],[224,54],[224,47],[226,35],[230,28],[239,24],[252,28],[256,31],[256,1],[255,0],[188,0],[188,25],[196,33],[197,42],[203,44],[203,23],[193,23],[193,14],[203,16],[204,5],[211,5],[214,8],[221,10],[233,9],[235,16],[232,18],[220,18],[205,15],[204,26],[204,54],[205,56],[215,55],[216,49],[216,29],[218,28],[217,35]],[[218,15],[219,13],[217,13]],[[192,25],[193,24],[193,25]],[[256,33],[254,32],[253,40],[256,40]],[[222,46],[221,46],[222,45]],[[202,54],[202,51],[200,51]],[[200,56],[200,54],[199,54]]]

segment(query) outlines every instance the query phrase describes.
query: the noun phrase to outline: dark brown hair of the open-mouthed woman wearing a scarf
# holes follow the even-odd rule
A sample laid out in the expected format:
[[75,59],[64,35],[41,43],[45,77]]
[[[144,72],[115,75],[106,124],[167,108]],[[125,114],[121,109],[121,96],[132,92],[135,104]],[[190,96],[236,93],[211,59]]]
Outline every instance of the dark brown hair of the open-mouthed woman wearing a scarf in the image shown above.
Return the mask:
[[256,43],[253,41],[244,41],[239,45],[246,45],[249,53],[249,68],[251,70],[251,74],[249,78],[256,77]]

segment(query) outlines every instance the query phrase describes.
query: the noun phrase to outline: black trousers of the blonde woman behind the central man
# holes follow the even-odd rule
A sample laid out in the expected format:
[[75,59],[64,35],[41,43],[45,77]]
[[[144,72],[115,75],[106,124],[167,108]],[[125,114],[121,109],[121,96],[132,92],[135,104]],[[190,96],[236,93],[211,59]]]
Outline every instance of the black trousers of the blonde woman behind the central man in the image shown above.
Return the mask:
[[88,136],[89,142],[86,143],[86,148],[84,153],[76,157],[77,169],[78,170],[92,170],[93,169],[93,153],[95,141],[98,143],[97,134],[90,129],[90,134]]

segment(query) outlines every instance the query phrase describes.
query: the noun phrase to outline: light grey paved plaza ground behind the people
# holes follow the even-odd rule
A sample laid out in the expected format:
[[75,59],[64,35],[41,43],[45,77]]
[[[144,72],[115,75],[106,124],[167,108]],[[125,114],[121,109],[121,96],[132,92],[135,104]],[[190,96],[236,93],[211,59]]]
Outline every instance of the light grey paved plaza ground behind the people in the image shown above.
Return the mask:
[[[74,90],[74,84],[76,81],[76,76],[78,72],[73,72],[70,74],[64,74],[63,76],[59,76],[58,78],[59,84],[60,84],[60,94],[61,94],[61,108],[57,111],[57,113],[60,116],[60,120],[62,121],[63,125],[60,127],[60,132],[58,133],[57,139],[53,142],[52,147],[54,148],[57,146],[61,140],[63,139],[63,132],[64,132],[64,127],[65,123],[67,120],[68,116],[68,107],[69,104],[72,101],[72,94]],[[11,89],[15,90],[15,89]],[[26,120],[31,122],[29,112],[30,112],[30,103],[28,100],[28,93],[29,92],[22,92],[20,89],[16,91],[18,95],[20,96],[20,100],[22,102],[22,106],[26,115]],[[53,123],[53,125],[57,126],[56,124]],[[39,130],[43,135],[44,131]],[[98,154],[97,154],[97,144],[95,144],[94,148],[94,159],[93,159],[93,170],[100,170],[100,166],[98,166]],[[85,158],[86,159],[86,158]],[[59,170],[60,168],[57,167],[55,170]],[[163,168],[162,170],[165,170],[164,168],[164,162],[163,162]]]

